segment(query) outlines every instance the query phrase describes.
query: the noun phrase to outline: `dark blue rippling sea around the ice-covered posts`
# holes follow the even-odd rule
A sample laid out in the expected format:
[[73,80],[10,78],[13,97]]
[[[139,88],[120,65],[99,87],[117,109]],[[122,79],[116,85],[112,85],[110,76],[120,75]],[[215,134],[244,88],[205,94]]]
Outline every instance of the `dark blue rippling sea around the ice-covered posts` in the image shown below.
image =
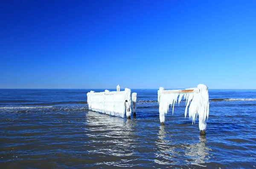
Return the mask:
[[209,89],[206,135],[185,101],[160,126],[157,89],[132,89],[131,119],[90,111],[90,90],[0,89],[0,168],[256,168],[256,90]]

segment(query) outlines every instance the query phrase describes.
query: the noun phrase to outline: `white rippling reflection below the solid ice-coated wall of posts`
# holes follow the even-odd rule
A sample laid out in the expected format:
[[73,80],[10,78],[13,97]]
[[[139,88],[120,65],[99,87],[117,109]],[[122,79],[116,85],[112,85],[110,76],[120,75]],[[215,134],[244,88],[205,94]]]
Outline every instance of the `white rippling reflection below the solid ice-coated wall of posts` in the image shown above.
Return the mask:
[[[116,163],[120,165],[120,158],[115,157],[134,155],[136,121],[89,111],[86,114],[86,125],[87,144],[91,145],[87,148],[88,154],[99,157],[110,155],[112,158],[106,158],[104,162],[107,165],[115,164],[113,160],[119,160]],[[127,160],[122,159],[122,162]]]

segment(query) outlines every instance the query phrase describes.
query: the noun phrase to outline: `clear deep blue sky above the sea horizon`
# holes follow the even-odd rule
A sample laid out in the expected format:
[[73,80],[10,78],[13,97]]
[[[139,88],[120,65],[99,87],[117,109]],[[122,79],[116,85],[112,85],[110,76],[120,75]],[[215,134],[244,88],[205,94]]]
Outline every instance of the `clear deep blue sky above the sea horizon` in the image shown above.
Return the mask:
[[1,0],[0,88],[256,89],[256,0]]

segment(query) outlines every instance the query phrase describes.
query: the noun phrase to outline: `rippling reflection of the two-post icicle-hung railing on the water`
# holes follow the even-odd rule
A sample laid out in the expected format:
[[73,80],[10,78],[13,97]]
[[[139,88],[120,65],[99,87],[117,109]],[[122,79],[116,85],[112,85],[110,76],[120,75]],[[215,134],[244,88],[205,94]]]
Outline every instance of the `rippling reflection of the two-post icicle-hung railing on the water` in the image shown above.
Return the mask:
[[[182,136],[181,136],[182,137]],[[194,164],[203,166],[205,160],[209,160],[209,149],[205,146],[207,139],[205,136],[199,136],[199,143],[184,144],[178,142],[173,135],[165,132],[165,126],[160,126],[158,132],[157,147],[159,151],[156,153],[155,163],[182,165]]]

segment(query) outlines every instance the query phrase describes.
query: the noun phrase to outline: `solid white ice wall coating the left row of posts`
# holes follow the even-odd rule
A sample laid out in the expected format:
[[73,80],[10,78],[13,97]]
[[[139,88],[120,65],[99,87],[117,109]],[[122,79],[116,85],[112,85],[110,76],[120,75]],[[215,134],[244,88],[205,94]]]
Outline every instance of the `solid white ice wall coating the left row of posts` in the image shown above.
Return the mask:
[[125,117],[131,116],[131,89],[125,91],[94,92],[87,93],[87,104],[90,110],[102,112],[108,115]]

